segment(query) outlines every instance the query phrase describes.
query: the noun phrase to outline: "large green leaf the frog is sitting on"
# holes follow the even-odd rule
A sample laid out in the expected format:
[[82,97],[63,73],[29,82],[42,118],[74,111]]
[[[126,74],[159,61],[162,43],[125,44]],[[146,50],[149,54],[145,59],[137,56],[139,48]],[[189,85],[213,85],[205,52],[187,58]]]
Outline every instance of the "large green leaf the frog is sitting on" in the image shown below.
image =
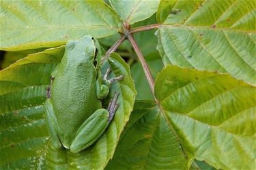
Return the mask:
[[136,94],[128,65],[117,54],[111,54],[102,69],[104,73],[106,67],[112,68],[109,78],[125,76],[111,86],[111,93],[103,102],[106,107],[113,93],[119,92],[119,108],[106,133],[79,154],[48,146],[42,104],[51,71],[61,61],[63,52],[63,47],[44,50],[0,71],[0,169],[45,169],[46,165],[60,169],[103,169],[113,156]]

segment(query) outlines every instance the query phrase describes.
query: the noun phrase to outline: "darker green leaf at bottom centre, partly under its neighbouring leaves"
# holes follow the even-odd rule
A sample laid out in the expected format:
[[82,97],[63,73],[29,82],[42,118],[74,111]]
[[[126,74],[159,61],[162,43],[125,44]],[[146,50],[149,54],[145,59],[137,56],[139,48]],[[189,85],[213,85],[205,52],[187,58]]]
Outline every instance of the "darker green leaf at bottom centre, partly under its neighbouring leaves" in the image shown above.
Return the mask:
[[169,122],[153,101],[137,101],[106,169],[187,169]]

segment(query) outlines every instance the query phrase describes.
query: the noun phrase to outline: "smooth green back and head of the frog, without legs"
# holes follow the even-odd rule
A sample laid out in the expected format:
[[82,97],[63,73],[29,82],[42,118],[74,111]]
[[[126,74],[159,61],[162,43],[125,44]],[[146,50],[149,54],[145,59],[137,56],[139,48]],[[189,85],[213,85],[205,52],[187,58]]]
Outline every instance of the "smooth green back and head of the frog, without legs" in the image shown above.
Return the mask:
[[[59,126],[58,135],[63,146],[67,148],[81,124],[101,107],[101,102],[96,97],[97,75],[94,58],[91,61],[89,57],[94,55],[95,48],[92,44],[77,46],[74,48],[78,49],[66,49],[51,92]],[[83,46],[87,49],[81,50]]]

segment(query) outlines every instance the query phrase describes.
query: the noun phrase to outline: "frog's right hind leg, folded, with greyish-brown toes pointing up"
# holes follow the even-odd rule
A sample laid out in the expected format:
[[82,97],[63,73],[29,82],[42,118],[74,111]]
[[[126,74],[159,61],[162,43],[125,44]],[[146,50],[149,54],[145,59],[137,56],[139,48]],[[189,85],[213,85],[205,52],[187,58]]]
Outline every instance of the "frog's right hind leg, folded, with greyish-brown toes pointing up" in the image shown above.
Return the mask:
[[71,152],[80,152],[91,146],[104,133],[117,110],[117,97],[118,94],[115,92],[108,109],[97,109],[94,114],[85,120],[77,131],[74,141],[71,143]]

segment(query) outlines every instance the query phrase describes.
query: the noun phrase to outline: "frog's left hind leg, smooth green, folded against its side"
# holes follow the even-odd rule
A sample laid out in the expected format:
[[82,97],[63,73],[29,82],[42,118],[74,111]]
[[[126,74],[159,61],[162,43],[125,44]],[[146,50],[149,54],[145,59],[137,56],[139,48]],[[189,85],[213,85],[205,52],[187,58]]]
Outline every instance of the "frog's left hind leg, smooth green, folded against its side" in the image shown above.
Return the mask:
[[57,134],[57,120],[55,118],[55,113],[53,110],[53,105],[51,103],[51,99],[46,99],[44,103],[44,111],[45,111],[45,120],[48,132],[51,138],[51,144],[53,148],[59,149],[61,148],[61,142],[59,141],[59,137]]

